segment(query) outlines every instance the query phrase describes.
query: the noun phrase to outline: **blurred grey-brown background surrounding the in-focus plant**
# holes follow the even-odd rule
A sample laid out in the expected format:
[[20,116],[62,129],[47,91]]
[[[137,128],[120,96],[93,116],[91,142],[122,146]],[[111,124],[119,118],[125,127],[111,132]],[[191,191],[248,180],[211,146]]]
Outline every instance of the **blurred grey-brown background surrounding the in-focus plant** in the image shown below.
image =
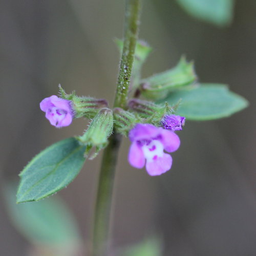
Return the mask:
[[[29,228],[30,209],[8,204],[15,192],[6,186],[18,181],[19,172],[42,149],[86,129],[83,119],[55,129],[40,111],[41,99],[56,95],[59,83],[68,93],[76,90],[78,95],[113,102],[119,63],[114,38],[122,38],[123,2],[0,3],[0,255],[75,256],[87,250],[101,155],[87,161],[78,178],[58,193],[72,227],[63,228],[59,220],[56,230],[73,230],[71,252],[54,252],[58,242],[48,235],[47,243],[33,240],[38,230],[33,233]],[[179,132],[180,149],[172,154],[172,170],[159,177],[127,163],[129,141],[123,139],[115,182],[113,248],[154,237],[166,256],[256,255],[255,13],[255,1],[237,0],[232,23],[215,26],[191,17],[176,1],[144,0],[140,38],[154,51],[142,76],[174,67],[185,54],[195,61],[200,81],[227,83],[250,106],[227,119],[187,121]],[[48,204],[47,200],[42,202]],[[56,196],[50,200],[59,201]],[[64,214],[47,207],[38,211],[53,211],[55,219],[49,220],[57,225]],[[113,255],[120,254],[115,249]]]

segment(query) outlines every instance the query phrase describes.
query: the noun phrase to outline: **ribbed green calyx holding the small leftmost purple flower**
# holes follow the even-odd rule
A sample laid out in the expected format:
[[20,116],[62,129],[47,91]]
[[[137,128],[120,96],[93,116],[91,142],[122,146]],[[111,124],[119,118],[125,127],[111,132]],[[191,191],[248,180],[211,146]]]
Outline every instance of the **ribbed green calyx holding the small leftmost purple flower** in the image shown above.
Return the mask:
[[75,112],[75,117],[93,118],[100,109],[108,107],[108,102],[105,99],[96,99],[92,97],[78,97],[75,92],[66,94],[59,84],[59,93],[61,98],[72,101],[72,108]]

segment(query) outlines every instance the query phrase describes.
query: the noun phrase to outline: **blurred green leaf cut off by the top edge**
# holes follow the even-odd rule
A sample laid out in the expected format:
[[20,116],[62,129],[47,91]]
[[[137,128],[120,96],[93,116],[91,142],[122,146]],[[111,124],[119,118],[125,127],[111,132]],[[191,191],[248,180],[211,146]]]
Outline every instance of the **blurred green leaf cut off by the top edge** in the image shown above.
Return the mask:
[[232,22],[233,0],[177,0],[191,16],[225,26]]

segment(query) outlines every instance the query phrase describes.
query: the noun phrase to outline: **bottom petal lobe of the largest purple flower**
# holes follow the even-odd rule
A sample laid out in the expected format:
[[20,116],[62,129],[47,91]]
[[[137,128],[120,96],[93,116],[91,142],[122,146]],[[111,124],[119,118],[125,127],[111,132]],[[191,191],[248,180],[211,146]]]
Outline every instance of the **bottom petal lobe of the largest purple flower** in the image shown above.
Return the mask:
[[153,161],[146,162],[147,173],[151,176],[161,175],[172,167],[173,159],[168,154],[163,154],[162,157],[157,157]]

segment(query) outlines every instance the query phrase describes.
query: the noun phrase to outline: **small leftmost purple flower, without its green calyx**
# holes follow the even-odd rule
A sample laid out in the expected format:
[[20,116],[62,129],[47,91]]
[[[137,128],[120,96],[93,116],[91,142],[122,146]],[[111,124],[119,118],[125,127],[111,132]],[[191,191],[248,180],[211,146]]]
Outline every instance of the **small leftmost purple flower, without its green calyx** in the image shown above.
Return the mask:
[[46,118],[56,127],[68,126],[72,122],[71,101],[52,95],[40,102],[40,109],[46,112]]

